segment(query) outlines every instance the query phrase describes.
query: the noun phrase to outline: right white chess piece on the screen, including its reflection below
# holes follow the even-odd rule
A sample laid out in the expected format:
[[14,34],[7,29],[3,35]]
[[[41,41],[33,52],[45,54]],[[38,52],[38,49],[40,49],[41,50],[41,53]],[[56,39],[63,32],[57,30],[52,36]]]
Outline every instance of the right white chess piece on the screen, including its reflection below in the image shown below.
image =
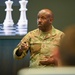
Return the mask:
[[18,31],[19,31],[19,34],[23,35],[23,34],[26,34],[27,33],[27,25],[28,25],[28,20],[26,18],[26,11],[27,11],[27,8],[26,8],[26,5],[28,3],[27,0],[21,0],[19,1],[20,3],[20,19],[18,20]]

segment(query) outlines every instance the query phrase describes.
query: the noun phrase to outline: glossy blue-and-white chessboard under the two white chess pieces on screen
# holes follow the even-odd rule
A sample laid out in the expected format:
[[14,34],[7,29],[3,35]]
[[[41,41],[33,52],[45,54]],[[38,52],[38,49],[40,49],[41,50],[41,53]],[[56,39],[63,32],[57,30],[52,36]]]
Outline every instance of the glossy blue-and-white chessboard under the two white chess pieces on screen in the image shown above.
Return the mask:
[[27,33],[27,26],[24,25],[19,27],[18,25],[6,26],[0,24],[0,36],[15,36],[15,35],[25,35]]

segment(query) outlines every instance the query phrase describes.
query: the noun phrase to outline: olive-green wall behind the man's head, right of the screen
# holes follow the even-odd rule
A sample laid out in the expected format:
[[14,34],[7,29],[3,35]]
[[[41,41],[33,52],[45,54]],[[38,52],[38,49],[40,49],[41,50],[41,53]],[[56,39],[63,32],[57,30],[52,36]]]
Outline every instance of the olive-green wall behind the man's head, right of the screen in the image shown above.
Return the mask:
[[54,12],[53,25],[60,30],[75,23],[75,0],[30,0],[27,11],[29,30],[37,27],[37,13],[42,8],[49,8]]

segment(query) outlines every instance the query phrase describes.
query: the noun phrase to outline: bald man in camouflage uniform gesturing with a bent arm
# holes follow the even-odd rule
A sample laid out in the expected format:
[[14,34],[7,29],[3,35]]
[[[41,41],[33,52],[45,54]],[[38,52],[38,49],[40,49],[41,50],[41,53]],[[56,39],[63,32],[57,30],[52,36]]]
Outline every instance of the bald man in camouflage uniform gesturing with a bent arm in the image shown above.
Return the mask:
[[53,27],[54,15],[49,9],[42,9],[37,15],[38,28],[30,31],[14,49],[13,56],[22,59],[30,50],[30,67],[55,65],[51,58],[53,50],[59,46],[63,32]]

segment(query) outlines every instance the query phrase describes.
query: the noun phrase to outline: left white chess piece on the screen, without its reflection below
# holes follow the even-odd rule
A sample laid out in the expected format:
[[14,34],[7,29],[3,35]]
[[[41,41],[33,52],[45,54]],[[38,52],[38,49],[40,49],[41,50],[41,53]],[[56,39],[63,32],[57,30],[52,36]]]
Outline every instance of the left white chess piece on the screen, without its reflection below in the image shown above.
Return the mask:
[[6,17],[5,17],[5,20],[3,22],[3,25],[4,25],[4,28],[6,28],[7,26],[13,26],[14,22],[12,20],[12,14],[11,14],[11,11],[13,11],[13,9],[11,8],[12,4],[13,4],[13,1],[5,1],[5,4],[6,4]]

